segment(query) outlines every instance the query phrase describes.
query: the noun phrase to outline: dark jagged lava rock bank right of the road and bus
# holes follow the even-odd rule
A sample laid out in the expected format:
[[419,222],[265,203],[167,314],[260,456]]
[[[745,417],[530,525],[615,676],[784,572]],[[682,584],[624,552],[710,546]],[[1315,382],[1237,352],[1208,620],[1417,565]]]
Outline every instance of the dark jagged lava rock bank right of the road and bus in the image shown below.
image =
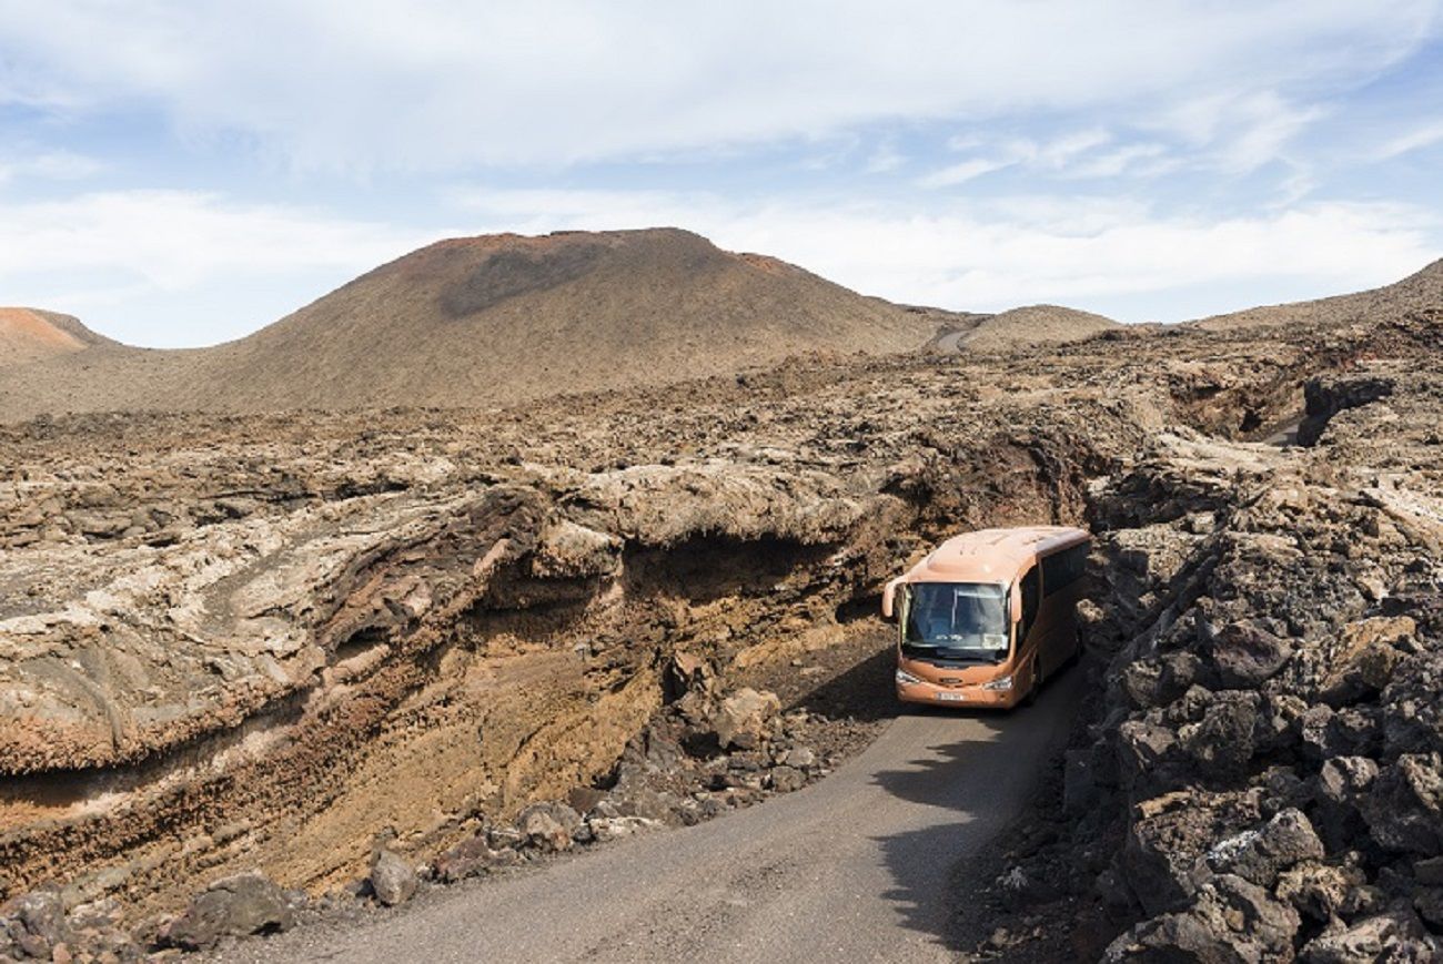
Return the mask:
[[1369,362],[1309,382],[1309,450],[1162,436],[1100,492],[1133,592],[1092,619],[1110,711],[1029,873],[1071,866],[1107,960],[1443,955],[1440,397]]

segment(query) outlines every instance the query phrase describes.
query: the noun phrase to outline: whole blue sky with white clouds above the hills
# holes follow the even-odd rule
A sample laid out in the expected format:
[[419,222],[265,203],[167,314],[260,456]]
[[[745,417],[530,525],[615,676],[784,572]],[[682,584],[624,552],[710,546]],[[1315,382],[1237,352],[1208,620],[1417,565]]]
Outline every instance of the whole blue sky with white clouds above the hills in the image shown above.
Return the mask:
[[675,225],[1183,320],[1443,257],[1443,0],[0,0],[0,304],[247,335],[431,241]]

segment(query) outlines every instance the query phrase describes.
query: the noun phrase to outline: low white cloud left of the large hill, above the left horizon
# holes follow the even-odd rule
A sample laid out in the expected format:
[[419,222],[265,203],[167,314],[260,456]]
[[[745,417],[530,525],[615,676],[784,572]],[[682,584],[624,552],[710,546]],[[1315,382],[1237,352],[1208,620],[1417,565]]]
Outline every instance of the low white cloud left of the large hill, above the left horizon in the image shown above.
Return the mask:
[[78,313],[137,343],[209,343],[434,238],[182,190],[0,199],[0,303]]

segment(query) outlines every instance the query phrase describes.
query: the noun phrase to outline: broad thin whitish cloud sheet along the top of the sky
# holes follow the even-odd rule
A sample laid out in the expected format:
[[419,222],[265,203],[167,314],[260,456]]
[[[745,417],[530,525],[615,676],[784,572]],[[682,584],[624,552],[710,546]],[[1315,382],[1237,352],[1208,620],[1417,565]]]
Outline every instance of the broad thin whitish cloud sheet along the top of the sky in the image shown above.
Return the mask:
[[[887,118],[1326,91],[1416,49],[1434,7],[0,0],[0,102],[150,105],[182,130],[255,137],[303,167],[564,165]],[[1307,108],[1290,117],[1261,118],[1238,163]]]

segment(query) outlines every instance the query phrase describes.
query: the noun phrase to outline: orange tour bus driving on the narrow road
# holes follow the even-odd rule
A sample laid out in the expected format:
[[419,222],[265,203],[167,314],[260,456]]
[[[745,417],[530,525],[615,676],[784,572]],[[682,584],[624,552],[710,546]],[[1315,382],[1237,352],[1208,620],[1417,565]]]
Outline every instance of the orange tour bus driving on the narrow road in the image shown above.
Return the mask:
[[947,540],[886,584],[898,698],[1013,707],[1078,654],[1076,602],[1092,537],[1062,525]]

